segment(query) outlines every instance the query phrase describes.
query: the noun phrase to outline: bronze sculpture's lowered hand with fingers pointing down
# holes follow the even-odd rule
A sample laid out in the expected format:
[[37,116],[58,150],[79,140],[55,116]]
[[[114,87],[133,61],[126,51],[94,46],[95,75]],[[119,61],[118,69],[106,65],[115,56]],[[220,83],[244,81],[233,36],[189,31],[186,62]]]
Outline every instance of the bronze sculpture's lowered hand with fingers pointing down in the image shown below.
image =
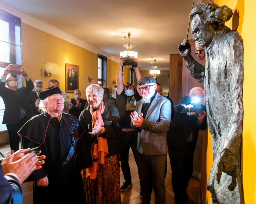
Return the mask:
[[221,175],[222,175],[222,172],[224,172],[232,176],[232,182],[231,184],[229,184],[228,189],[230,191],[233,191],[237,186],[236,174],[237,174],[238,165],[239,165],[239,162],[237,160],[237,157],[231,151],[229,151],[228,149],[225,149],[218,163],[218,172],[217,172],[218,184],[221,183]]

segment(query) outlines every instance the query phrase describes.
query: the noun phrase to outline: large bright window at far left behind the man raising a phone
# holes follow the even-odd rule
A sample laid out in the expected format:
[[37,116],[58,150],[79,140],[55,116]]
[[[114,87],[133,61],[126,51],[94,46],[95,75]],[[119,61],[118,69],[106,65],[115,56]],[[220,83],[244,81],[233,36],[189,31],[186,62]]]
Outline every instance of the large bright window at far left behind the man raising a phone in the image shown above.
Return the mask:
[[[21,20],[20,18],[0,10],[0,77],[9,64],[22,64]],[[22,75],[14,75],[19,87],[22,86]],[[7,77],[8,78],[8,77]],[[4,103],[0,97],[0,131],[6,130],[2,125]]]

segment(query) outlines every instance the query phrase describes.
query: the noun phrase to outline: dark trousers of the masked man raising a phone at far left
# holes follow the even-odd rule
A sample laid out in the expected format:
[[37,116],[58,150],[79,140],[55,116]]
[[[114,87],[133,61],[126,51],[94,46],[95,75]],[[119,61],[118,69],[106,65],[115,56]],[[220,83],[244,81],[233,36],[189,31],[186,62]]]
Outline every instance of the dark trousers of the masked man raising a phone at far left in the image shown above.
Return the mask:
[[9,134],[11,150],[15,150],[15,151],[19,150],[19,136],[17,132],[19,131],[20,128],[22,128],[25,122],[26,122],[26,119],[23,118],[22,120],[19,121],[18,124],[6,125],[8,134]]

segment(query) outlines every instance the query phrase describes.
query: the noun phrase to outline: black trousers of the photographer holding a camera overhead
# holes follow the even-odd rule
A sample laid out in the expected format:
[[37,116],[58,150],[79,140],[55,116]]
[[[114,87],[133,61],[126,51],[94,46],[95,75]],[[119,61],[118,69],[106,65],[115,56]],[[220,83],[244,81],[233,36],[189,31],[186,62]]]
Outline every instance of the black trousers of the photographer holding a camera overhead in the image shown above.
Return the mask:
[[134,159],[136,161],[138,132],[131,134],[122,133],[121,135],[121,168],[126,182],[131,183],[131,171],[129,166],[129,150],[131,147]]

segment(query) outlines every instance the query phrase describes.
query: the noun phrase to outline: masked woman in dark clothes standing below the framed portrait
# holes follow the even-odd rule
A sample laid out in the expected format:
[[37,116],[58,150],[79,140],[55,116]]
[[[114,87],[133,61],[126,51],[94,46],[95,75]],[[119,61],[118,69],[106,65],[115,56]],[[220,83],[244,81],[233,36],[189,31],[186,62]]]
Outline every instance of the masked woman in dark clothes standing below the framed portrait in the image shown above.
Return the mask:
[[85,101],[81,98],[81,91],[79,89],[74,90],[75,99],[71,100],[72,108],[69,109],[69,114],[79,119],[81,112],[84,110]]

